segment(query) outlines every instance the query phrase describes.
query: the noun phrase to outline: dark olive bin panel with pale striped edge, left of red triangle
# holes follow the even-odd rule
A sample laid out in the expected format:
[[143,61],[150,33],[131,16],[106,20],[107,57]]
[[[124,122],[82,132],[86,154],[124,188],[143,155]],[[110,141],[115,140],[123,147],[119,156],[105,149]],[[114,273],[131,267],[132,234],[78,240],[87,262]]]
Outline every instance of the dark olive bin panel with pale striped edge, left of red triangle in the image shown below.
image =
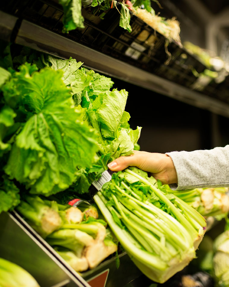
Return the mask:
[[15,217],[15,213],[0,214],[0,257],[27,270],[41,287],[89,287],[45,248]]

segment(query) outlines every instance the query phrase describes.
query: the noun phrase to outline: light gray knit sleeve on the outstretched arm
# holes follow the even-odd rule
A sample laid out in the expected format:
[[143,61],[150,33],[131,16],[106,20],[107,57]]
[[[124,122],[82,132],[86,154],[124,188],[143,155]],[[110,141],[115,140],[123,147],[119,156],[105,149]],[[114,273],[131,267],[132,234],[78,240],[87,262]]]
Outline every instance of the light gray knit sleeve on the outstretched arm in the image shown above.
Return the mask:
[[229,187],[229,145],[211,150],[172,151],[178,184],[173,190],[203,187]]

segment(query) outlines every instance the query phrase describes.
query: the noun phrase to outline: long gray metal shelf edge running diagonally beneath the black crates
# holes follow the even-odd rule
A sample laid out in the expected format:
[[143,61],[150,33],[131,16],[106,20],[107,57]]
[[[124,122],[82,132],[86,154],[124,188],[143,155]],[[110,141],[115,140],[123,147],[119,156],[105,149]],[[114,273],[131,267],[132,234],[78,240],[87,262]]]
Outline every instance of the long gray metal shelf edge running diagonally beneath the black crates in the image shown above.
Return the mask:
[[[0,17],[0,38],[4,39],[2,30],[4,30],[5,23],[9,22],[7,19],[13,16],[0,11]],[[18,22],[16,21],[16,23]],[[22,20],[20,27],[17,27],[17,29],[14,27],[12,31],[14,43],[16,44],[25,45],[37,51],[49,53],[60,58],[76,58],[78,61],[84,62],[85,67],[152,90],[158,94],[169,96],[195,107],[209,110],[212,113],[229,117],[229,105],[218,99],[195,92],[177,83],[156,76],[153,73],[127,64],[124,61],[120,61],[117,58],[105,55],[27,20]]]

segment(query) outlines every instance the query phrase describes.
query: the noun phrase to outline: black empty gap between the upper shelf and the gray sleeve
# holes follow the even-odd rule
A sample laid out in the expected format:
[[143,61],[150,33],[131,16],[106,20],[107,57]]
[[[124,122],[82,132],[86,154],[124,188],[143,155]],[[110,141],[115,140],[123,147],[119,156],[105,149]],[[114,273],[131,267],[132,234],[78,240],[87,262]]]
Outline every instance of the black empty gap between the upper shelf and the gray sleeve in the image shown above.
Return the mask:
[[180,101],[112,79],[129,92],[130,126],[142,126],[139,144],[150,152],[193,151],[229,144],[229,119]]

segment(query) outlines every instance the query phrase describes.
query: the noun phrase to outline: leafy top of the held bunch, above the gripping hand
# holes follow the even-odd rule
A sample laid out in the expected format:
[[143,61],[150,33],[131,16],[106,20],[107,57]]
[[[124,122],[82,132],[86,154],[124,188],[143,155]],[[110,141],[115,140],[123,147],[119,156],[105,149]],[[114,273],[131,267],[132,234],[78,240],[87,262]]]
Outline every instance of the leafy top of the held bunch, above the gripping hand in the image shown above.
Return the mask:
[[[113,82],[93,70],[81,67],[75,59],[61,60],[52,56],[42,56],[39,66],[63,72],[62,80],[70,89],[77,108],[83,112],[83,120],[96,131],[99,151],[91,167],[77,166],[76,179],[72,191],[88,192],[91,183],[107,169],[109,161],[133,154],[139,149],[137,141],[141,128],[133,130],[126,111],[127,91],[110,90]],[[81,68],[80,68],[81,67]]]

